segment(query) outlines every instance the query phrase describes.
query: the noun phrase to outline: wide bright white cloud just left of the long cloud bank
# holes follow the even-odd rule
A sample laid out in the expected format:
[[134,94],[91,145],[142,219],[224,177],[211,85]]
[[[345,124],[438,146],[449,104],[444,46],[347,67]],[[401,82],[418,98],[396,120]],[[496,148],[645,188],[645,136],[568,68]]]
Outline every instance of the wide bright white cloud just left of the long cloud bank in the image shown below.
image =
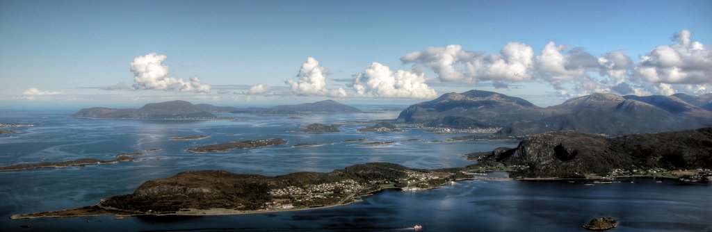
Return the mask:
[[362,97],[432,98],[438,95],[425,83],[424,73],[393,72],[388,66],[376,62],[365,72],[355,75],[353,88],[356,95]]

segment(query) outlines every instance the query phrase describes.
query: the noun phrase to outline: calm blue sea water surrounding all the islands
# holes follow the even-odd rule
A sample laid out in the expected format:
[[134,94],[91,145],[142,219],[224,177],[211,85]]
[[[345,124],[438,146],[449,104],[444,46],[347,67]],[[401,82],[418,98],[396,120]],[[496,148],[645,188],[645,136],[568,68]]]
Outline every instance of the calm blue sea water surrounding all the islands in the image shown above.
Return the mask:
[[[0,122],[31,123],[0,135],[0,165],[69,159],[113,159],[122,152],[148,152],[139,162],[84,168],[0,172],[1,231],[402,231],[422,224],[424,231],[572,231],[597,216],[619,218],[617,231],[712,231],[712,187],[677,186],[671,181],[584,186],[523,181],[461,181],[419,192],[384,191],[349,206],[311,211],[243,216],[122,218],[41,218],[10,220],[14,213],[53,211],[95,204],[129,194],[142,182],[194,169],[265,175],[330,172],[352,164],[393,162],[413,168],[462,167],[461,154],[515,147],[517,141],[457,143],[398,142],[444,140],[464,134],[436,135],[422,130],[357,132],[366,125],[346,125],[341,133],[287,132],[310,123],[394,118],[398,111],[355,115],[232,115],[241,122],[151,122],[85,120],[73,110],[31,112],[4,110]],[[171,136],[209,135],[174,141]],[[282,137],[286,145],[222,153],[191,153],[202,144]],[[395,141],[385,147],[359,147],[345,139]],[[291,147],[298,143],[333,143]],[[23,224],[32,227],[20,228]]]

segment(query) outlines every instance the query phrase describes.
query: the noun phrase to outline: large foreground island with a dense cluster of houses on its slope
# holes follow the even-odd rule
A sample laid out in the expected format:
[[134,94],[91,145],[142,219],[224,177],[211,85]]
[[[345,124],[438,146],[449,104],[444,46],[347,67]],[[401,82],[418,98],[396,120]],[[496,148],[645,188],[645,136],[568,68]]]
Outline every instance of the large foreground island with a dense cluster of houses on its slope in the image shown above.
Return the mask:
[[281,176],[234,174],[219,170],[181,172],[146,181],[132,194],[111,196],[93,206],[24,213],[38,217],[141,215],[228,215],[315,209],[350,204],[383,189],[432,189],[471,179],[460,169],[410,169],[399,164],[356,164],[333,172]]

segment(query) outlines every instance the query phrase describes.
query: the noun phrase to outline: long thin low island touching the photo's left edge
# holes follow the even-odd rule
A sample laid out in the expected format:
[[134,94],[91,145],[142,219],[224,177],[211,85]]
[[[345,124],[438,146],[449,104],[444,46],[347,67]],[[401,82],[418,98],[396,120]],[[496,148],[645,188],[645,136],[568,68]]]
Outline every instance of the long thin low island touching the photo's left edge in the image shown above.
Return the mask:
[[41,162],[34,164],[13,164],[9,166],[0,167],[0,172],[11,172],[11,171],[21,171],[28,169],[41,169],[41,168],[63,168],[63,167],[84,167],[86,165],[93,164],[116,164],[118,162],[132,162],[136,159],[133,157],[143,155],[143,153],[130,153],[130,154],[117,154],[116,159],[112,160],[100,160],[100,159],[75,159],[62,162]]

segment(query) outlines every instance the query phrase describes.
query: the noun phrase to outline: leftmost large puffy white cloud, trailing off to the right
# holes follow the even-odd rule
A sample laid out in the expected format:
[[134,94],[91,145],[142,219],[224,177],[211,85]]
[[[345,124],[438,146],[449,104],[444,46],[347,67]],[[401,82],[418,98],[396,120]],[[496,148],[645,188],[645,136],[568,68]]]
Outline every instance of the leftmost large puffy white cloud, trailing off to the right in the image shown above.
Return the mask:
[[138,56],[130,63],[134,73],[133,89],[153,89],[179,92],[209,93],[210,85],[200,83],[197,77],[188,81],[168,76],[168,66],[163,65],[167,57],[156,53]]

